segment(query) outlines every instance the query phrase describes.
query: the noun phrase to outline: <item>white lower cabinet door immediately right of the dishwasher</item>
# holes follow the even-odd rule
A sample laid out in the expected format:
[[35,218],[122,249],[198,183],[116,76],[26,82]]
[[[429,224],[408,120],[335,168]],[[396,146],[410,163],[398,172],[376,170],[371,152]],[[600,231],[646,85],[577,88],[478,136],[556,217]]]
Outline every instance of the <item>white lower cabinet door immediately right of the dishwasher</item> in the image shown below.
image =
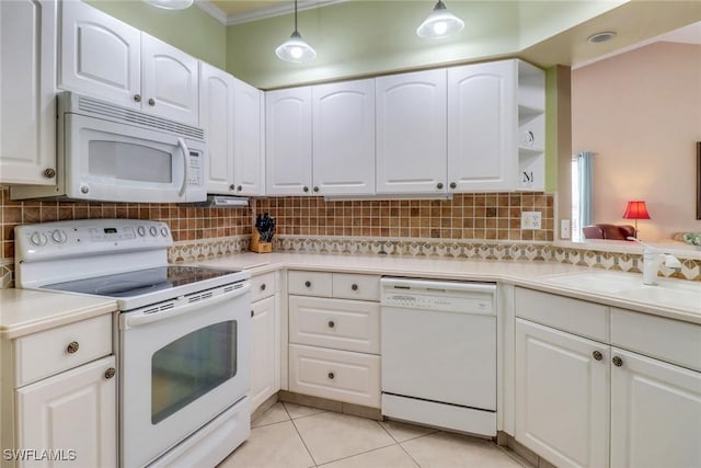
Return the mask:
[[609,466],[608,355],[596,341],[517,319],[516,440],[559,467]]

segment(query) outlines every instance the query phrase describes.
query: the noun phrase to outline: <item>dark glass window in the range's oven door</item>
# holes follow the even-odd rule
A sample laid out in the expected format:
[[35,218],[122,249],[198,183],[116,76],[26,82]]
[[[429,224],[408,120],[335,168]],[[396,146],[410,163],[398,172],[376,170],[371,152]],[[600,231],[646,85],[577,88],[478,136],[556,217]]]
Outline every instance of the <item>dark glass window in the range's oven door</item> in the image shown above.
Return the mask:
[[237,322],[215,323],[170,343],[151,359],[151,423],[237,374]]

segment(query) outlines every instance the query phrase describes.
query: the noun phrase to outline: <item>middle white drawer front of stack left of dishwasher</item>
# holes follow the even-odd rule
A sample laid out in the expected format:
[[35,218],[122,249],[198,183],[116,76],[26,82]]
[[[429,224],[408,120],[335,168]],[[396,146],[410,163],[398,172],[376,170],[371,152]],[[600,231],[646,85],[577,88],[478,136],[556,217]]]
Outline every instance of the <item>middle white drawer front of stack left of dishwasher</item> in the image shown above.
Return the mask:
[[290,296],[290,343],[380,353],[380,305]]

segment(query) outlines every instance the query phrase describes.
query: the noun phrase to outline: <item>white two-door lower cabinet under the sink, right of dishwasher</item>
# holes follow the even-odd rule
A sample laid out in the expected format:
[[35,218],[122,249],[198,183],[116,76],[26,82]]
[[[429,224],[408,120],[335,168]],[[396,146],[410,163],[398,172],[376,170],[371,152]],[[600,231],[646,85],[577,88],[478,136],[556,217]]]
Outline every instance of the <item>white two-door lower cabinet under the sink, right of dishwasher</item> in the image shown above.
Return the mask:
[[701,326],[577,303],[516,288],[516,441],[559,467],[701,467]]

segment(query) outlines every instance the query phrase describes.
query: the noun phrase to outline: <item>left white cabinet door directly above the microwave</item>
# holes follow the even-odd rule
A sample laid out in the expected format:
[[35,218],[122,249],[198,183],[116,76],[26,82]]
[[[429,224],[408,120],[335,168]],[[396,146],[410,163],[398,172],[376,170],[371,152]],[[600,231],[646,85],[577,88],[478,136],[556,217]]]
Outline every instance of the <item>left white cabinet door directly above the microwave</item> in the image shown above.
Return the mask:
[[140,109],[139,30],[80,1],[61,8],[59,88]]

